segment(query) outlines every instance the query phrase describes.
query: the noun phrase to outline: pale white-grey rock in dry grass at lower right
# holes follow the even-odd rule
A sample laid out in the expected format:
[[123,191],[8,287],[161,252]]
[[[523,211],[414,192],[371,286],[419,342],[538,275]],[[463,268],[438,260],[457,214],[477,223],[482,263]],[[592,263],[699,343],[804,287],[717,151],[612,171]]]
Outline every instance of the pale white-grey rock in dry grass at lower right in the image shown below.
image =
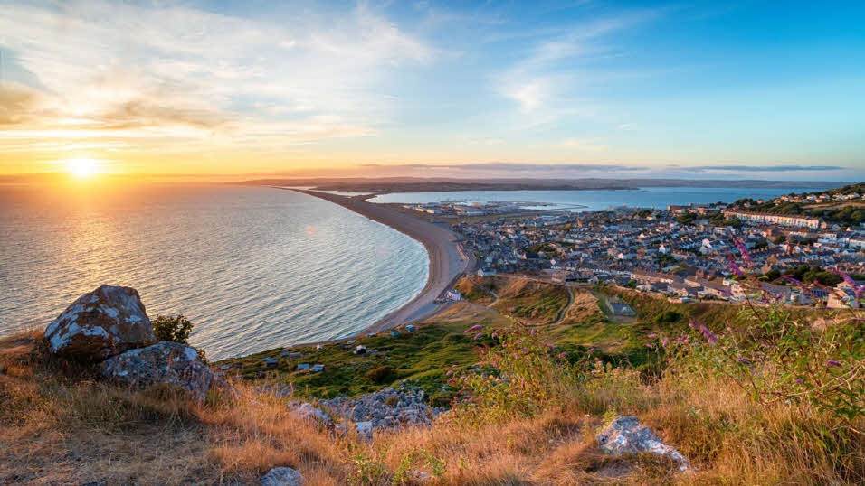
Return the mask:
[[635,416],[617,416],[595,435],[604,453],[656,453],[679,463],[679,470],[689,468],[688,459],[670,445],[661,442],[651,428]]

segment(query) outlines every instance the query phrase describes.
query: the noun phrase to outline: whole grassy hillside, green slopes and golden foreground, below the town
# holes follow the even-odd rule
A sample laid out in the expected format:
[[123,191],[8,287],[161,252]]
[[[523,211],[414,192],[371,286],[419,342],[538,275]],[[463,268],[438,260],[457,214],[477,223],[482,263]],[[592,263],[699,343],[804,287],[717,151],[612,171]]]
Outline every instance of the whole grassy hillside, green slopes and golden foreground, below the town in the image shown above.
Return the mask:
[[[527,307],[536,304],[533,291],[538,302],[563,295],[560,285],[527,290],[503,277],[490,286]],[[612,296],[637,315],[604,313],[598,300]],[[233,366],[240,393],[211,394],[204,403],[168,388],[110,385],[93,369],[52,358],[38,333],[5,339],[0,483],[248,484],[277,466],[325,485],[865,481],[865,423],[860,408],[843,405],[848,392],[853,401],[861,397],[862,339],[849,322],[813,326],[818,314],[805,310],[755,321],[734,305],[676,304],[613,288],[575,289],[563,316],[555,324],[515,323],[484,305],[455,304],[415,332],[352,345],[378,351],[370,356],[343,350],[340,342],[291,349],[303,353],[299,359],[281,357],[280,349],[214,363]],[[693,318],[718,341],[690,328]],[[797,320],[804,325],[796,327]],[[480,330],[465,332],[474,325]],[[727,360],[729,352],[753,360],[747,341],[721,334],[727,325],[758,325],[782,336],[798,329],[792,334],[797,359],[811,367],[818,385],[797,385],[772,371],[786,366],[786,352],[773,351],[786,341],[761,351],[780,357],[775,364]],[[678,348],[659,344],[680,333],[691,341]],[[280,358],[279,367],[265,368],[265,356]],[[838,366],[826,366],[827,360]],[[299,373],[299,362],[326,369]],[[384,374],[369,373],[383,367],[389,368]],[[366,393],[404,379],[438,405],[452,400],[452,411],[430,428],[376,433],[367,443],[318,428],[286,407],[293,399]],[[291,383],[295,395],[271,395],[261,389],[267,383]],[[830,388],[833,394],[825,395]],[[693,470],[676,472],[652,454],[602,453],[595,431],[615,415],[638,416],[684,453]],[[418,480],[418,472],[431,481]]]

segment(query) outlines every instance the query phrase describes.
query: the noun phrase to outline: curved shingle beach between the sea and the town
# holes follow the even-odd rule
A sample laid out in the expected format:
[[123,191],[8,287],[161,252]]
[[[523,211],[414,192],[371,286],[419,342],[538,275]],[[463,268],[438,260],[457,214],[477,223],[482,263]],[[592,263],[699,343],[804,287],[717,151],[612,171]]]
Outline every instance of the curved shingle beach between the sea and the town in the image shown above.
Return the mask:
[[433,301],[442,296],[458,277],[471,266],[474,266],[474,258],[463,255],[458,243],[459,237],[446,225],[415,218],[399,210],[388,208],[382,204],[366,202],[359,198],[339,196],[328,192],[290,190],[339,204],[348,210],[353,210],[370,220],[378,221],[420,241],[426,248],[430,256],[430,272],[421,293],[363,332],[385,331],[401,324],[423,320],[441,311],[448,305],[434,304]]

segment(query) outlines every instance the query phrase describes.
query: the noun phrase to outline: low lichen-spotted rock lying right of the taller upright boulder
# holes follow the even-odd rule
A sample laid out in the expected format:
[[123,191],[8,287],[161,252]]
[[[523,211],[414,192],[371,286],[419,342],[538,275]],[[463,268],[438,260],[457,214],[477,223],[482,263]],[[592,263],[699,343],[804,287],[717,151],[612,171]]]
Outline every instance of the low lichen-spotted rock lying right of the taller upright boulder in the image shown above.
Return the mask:
[[182,388],[196,400],[204,400],[207,390],[219,385],[195,349],[171,341],[109,358],[102,361],[100,371],[106,378],[137,387],[167,384]]

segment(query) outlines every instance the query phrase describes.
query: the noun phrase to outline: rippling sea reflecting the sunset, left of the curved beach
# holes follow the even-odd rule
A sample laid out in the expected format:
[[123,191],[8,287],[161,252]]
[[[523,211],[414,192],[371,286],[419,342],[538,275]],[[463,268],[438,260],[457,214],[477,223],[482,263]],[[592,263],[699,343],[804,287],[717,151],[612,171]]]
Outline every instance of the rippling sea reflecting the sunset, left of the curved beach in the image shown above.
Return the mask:
[[43,328],[100,284],[185,313],[225,358],[336,338],[426,283],[423,245],[336,204],[270,188],[0,188],[0,335]]

